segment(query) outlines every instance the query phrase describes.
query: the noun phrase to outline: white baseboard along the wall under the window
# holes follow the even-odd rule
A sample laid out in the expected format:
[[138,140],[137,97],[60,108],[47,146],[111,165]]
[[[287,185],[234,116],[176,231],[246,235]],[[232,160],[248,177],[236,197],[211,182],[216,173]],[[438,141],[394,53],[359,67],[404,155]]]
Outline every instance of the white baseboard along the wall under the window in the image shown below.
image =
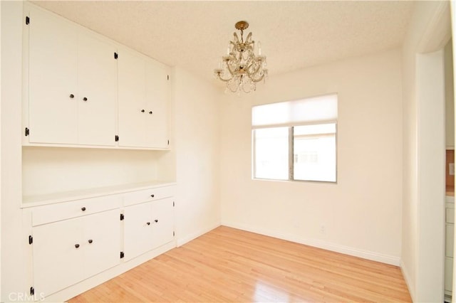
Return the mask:
[[283,240],[289,240],[291,242],[309,245],[309,246],[313,246],[315,248],[322,248],[324,250],[340,252],[345,255],[353,255],[354,257],[362,257],[363,259],[382,262],[382,263],[386,263],[389,265],[395,265],[395,266],[400,265],[400,258],[392,256],[392,255],[383,255],[378,252],[360,250],[358,248],[351,248],[348,246],[329,243],[329,242],[322,241],[322,240],[301,238],[297,235],[279,233],[276,230],[266,230],[264,228],[257,228],[257,227],[242,224],[242,223],[233,223],[233,222],[222,221],[222,225],[232,227],[232,228],[247,230],[252,233],[259,233],[261,235],[269,235],[270,237],[279,238],[279,239],[283,239]]

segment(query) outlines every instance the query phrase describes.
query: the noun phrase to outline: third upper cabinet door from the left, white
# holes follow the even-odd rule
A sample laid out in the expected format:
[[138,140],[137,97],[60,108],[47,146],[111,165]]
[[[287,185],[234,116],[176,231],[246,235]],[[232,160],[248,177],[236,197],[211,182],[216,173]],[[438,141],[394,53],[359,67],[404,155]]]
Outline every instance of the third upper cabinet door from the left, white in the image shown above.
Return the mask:
[[145,147],[145,62],[120,51],[118,58],[119,146]]

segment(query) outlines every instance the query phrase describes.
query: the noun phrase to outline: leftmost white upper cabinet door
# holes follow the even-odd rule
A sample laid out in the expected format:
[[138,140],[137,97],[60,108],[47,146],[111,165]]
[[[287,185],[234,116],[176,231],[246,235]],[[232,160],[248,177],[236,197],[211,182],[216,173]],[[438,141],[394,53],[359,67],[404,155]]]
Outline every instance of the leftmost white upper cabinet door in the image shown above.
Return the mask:
[[30,142],[77,142],[76,28],[38,10],[29,26]]

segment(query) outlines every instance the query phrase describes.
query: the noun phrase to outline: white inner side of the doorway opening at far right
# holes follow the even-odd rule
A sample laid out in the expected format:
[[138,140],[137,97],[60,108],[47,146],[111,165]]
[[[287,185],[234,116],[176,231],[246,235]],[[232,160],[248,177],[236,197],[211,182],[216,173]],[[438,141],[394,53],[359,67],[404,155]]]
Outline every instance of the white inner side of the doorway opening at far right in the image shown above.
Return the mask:
[[443,301],[445,255],[445,89],[443,51],[417,55],[418,268],[415,297]]

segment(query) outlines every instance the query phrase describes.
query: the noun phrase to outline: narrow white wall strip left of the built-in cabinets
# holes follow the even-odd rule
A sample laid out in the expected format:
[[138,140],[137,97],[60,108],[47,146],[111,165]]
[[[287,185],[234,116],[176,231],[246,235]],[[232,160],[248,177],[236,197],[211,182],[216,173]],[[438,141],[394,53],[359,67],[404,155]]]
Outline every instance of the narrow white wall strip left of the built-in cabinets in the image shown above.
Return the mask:
[[1,1],[1,302],[25,294],[21,233],[22,2]]

